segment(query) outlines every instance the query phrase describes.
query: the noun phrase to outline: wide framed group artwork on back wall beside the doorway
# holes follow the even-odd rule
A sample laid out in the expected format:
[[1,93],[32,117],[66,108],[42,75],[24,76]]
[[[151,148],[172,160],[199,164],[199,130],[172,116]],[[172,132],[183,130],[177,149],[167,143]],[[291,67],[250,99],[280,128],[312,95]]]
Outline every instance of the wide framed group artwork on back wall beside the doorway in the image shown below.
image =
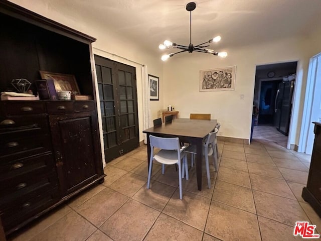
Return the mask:
[[200,91],[235,89],[236,66],[200,71]]

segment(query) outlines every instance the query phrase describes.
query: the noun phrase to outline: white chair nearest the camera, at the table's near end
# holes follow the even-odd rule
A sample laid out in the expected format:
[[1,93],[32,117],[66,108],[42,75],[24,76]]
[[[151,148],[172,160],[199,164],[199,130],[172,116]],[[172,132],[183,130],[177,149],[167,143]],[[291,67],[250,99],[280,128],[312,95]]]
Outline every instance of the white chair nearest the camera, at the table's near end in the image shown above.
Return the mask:
[[[183,198],[182,194],[182,168],[184,168],[184,173],[186,173],[186,180],[189,180],[188,176],[188,166],[187,166],[187,157],[184,150],[186,147],[180,146],[180,139],[175,138],[163,138],[163,137],[154,137],[149,136],[150,142],[150,159],[149,159],[149,169],[148,169],[148,179],[147,179],[147,189],[150,186],[150,178],[152,171],[153,160],[162,164],[162,174],[165,172],[165,165],[178,165],[179,172],[179,189],[180,189],[180,199]],[[154,148],[161,149],[154,155]],[[183,164],[181,161],[183,160]]]

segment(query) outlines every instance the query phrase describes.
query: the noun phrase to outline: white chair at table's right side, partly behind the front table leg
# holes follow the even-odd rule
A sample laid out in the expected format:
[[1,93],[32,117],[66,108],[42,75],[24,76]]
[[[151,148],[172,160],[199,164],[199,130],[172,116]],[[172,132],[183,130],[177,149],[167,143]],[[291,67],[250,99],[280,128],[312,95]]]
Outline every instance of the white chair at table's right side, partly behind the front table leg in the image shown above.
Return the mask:
[[[211,174],[210,174],[210,165],[209,165],[209,156],[213,156],[213,164],[215,171],[218,171],[218,158],[216,153],[216,147],[215,147],[215,140],[216,140],[216,134],[218,130],[217,128],[214,129],[214,132],[209,133],[207,136],[207,140],[205,143],[203,143],[203,155],[205,156],[205,165],[206,165],[206,174],[207,174],[207,183],[208,188],[211,188]],[[195,155],[196,155],[196,145],[190,145],[185,150],[185,153],[191,153],[192,154],[192,163],[194,163]],[[182,177],[184,178],[185,171],[183,170]]]

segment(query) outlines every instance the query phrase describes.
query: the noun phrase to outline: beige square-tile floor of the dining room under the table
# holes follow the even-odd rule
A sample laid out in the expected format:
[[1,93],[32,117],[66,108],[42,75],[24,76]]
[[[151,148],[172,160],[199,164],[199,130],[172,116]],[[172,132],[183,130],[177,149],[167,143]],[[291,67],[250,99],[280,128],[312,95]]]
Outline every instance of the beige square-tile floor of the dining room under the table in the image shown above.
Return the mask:
[[146,189],[146,147],[137,148],[107,164],[102,185],[9,240],[303,240],[292,235],[295,221],[303,220],[321,230],[321,219],[301,198],[310,156],[266,140],[219,142],[219,152],[212,189],[205,176],[198,191],[191,168],[180,200],[174,167],[163,176],[154,165]]

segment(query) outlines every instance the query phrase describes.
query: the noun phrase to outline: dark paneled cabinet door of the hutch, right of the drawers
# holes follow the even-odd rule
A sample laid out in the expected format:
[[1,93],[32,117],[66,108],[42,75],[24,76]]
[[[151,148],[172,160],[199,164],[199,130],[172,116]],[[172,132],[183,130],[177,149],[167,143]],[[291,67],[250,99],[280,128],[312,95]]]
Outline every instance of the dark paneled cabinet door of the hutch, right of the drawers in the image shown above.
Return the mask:
[[92,112],[49,116],[61,194],[67,195],[97,178]]

